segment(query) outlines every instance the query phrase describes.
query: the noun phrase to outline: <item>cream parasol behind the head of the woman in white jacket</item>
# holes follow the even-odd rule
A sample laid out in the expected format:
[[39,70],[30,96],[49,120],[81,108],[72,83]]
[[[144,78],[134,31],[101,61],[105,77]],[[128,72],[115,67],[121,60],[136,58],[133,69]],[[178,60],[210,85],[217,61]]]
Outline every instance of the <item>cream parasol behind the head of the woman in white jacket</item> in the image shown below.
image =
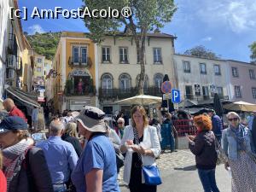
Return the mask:
[[131,105],[151,105],[151,104],[156,104],[160,102],[162,102],[162,97],[160,96],[139,95],[139,96],[132,96],[115,103],[131,104]]

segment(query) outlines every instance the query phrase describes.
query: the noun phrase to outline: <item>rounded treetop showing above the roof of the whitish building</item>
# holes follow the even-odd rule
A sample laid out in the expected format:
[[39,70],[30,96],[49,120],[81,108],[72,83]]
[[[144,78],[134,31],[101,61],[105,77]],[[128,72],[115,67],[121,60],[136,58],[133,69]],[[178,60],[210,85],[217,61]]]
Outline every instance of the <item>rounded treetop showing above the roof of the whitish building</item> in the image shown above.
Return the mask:
[[195,46],[192,49],[188,49],[184,52],[184,55],[193,55],[206,59],[220,59],[220,55],[216,55],[212,50],[206,49],[202,45]]

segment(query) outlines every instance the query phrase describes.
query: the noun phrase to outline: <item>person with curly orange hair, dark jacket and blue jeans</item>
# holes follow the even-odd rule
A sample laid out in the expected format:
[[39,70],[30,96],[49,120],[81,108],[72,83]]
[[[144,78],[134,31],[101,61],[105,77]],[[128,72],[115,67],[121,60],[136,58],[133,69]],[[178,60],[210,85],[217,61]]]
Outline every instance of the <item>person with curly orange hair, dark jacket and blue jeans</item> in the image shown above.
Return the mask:
[[215,150],[215,136],[212,130],[212,121],[201,114],[195,116],[194,124],[197,135],[186,136],[189,149],[195,154],[195,163],[203,189],[205,192],[219,192],[215,180],[217,153]]

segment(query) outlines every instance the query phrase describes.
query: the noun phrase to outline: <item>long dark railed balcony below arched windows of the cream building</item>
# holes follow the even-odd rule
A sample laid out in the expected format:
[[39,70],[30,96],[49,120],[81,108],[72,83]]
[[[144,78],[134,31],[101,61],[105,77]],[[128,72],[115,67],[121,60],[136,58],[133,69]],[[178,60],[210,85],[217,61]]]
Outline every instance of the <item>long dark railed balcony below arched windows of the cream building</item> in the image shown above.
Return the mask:
[[[116,100],[116,99],[125,99],[129,98],[131,96],[137,96],[137,87],[131,87],[130,89],[99,89],[99,99],[100,100]],[[148,87],[147,89],[144,89],[144,94],[149,96],[162,96],[160,92],[160,88],[158,87]]]

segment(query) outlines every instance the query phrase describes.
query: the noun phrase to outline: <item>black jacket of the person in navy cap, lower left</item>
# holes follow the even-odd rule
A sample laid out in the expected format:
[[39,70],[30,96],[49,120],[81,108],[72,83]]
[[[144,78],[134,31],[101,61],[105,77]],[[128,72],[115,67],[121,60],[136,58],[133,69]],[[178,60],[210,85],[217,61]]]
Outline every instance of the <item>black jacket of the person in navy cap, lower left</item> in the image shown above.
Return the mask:
[[19,174],[9,183],[9,192],[53,192],[44,151],[34,147],[27,153],[28,160],[22,162]]

